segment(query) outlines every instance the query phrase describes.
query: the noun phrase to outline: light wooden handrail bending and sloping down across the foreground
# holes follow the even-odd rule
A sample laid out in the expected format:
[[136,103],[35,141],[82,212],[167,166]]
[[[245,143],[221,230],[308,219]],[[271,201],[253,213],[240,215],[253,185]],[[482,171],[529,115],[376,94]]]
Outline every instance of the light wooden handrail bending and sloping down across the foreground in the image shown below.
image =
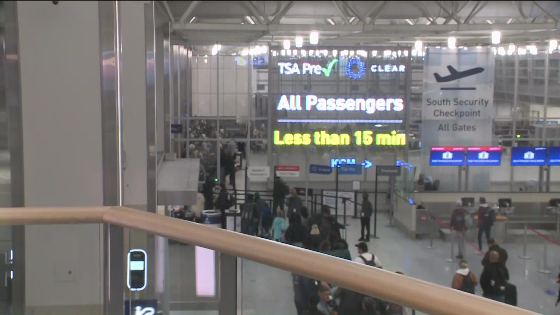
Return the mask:
[[43,223],[108,223],[137,229],[335,283],[433,315],[536,314],[323,253],[126,207],[0,209],[0,224]]

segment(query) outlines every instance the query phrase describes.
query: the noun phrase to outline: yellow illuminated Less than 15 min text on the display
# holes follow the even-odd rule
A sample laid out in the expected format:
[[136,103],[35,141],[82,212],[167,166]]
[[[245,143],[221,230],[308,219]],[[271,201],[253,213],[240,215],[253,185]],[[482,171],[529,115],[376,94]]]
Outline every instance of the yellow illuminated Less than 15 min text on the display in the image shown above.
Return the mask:
[[370,146],[375,143],[378,146],[404,146],[407,137],[404,133],[376,133],[371,130],[354,132],[351,136],[348,133],[328,133],[324,130],[311,133],[282,133],[279,130],[274,131],[275,145],[311,145],[314,143],[318,146],[348,146],[354,141],[356,145]]

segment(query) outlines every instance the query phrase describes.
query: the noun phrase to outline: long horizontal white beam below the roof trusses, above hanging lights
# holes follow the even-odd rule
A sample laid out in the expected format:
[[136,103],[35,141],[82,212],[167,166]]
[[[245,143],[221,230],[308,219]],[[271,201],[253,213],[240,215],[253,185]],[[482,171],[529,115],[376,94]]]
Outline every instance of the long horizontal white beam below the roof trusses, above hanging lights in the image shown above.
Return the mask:
[[430,25],[318,25],[318,24],[223,24],[223,23],[191,23],[183,24],[175,22],[171,24],[175,30],[187,31],[223,31],[224,33],[236,31],[248,32],[269,32],[274,33],[295,33],[301,31],[324,31],[324,32],[371,32],[371,31],[396,31],[402,33],[418,32],[452,32],[452,31],[527,31],[527,30],[556,30],[557,23],[536,23],[536,24],[430,24]]

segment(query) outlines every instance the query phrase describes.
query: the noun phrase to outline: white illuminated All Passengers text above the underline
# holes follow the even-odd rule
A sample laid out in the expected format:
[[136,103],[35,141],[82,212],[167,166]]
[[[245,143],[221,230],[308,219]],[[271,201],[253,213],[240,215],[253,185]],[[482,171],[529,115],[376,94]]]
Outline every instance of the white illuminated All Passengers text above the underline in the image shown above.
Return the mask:
[[[362,99],[362,98],[319,98],[316,95],[282,95],[276,110],[319,110],[319,111],[364,111],[366,114],[375,112],[402,112],[404,100],[401,98]],[[303,106],[303,107],[302,107]]]

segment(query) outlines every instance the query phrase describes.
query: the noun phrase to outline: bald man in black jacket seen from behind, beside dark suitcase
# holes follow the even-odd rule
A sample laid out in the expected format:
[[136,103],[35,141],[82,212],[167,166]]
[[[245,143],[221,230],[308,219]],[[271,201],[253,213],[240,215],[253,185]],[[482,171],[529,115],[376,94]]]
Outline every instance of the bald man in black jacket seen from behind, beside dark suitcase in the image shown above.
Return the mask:
[[510,280],[510,274],[506,266],[500,262],[500,254],[496,251],[490,251],[490,263],[484,267],[480,275],[480,288],[482,288],[482,296],[498,302],[505,302],[507,281]]

